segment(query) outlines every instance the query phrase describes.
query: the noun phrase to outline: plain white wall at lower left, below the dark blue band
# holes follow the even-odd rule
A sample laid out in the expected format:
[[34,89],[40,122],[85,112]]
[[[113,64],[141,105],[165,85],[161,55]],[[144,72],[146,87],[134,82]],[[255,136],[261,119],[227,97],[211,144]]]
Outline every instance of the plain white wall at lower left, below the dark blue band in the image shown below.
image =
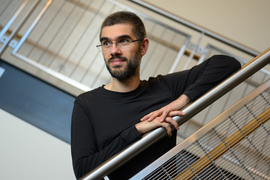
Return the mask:
[[0,179],[75,179],[70,145],[0,109]]

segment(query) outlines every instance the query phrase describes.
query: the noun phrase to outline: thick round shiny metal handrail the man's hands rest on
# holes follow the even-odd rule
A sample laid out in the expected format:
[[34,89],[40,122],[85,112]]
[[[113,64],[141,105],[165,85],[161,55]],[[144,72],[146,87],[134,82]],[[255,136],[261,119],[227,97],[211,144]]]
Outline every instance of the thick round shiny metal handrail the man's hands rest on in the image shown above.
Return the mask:
[[[228,91],[233,89],[235,86],[243,82],[245,79],[253,75],[255,72],[263,68],[270,62],[270,48],[265,50],[259,56],[255,57],[248,64],[242,67],[237,73],[232,75],[230,78],[222,82],[220,85],[206,93],[204,96],[196,100],[194,103],[190,104],[188,107],[183,109],[185,116],[175,116],[173,119],[182,125],[190,118],[195,116],[201,110],[206,108],[209,104],[213,103],[215,100],[220,98],[222,95],[226,94]],[[173,128],[173,127],[172,127]],[[174,129],[174,128],[173,128]],[[141,140],[132,144],[121,153],[115,155],[113,158],[104,162],[102,165],[91,171],[90,173],[83,176],[82,180],[90,179],[101,179],[107,174],[119,168],[121,165],[128,162],[130,159],[141,153],[146,148],[150,147],[155,142],[159,141],[161,138],[167,135],[164,128],[158,128],[152,132],[145,135]]]

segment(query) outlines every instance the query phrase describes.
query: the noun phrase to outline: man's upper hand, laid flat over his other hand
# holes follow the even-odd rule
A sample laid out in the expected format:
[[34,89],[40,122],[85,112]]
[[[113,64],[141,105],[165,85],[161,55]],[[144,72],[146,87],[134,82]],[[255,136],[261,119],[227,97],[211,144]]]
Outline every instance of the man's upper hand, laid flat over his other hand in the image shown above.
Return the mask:
[[164,106],[163,108],[153,111],[150,114],[147,114],[144,116],[141,121],[153,121],[157,117],[159,117],[159,121],[162,123],[166,121],[167,117],[172,117],[172,113],[175,114],[177,112],[178,116],[185,115],[184,112],[179,111],[180,108],[184,107],[187,103],[189,103],[190,99],[185,94],[182,94],[178,99],[171,102],[167,106]]

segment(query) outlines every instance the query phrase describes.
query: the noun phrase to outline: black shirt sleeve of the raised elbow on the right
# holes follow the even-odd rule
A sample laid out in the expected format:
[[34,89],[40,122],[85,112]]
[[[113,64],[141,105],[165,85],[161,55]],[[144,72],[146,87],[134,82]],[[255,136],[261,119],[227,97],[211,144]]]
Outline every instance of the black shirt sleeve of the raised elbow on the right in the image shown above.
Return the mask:
[[190,70],[165,76],[164,80],[175,98],[185,94],[195,101],[240,68],[241,64],[235,58],[215,55]]

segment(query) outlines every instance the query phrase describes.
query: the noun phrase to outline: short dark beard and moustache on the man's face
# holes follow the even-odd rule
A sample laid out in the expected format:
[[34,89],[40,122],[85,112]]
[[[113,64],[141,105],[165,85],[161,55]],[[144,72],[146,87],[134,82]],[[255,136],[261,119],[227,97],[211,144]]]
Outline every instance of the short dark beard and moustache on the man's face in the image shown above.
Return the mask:
[[[106,67],[109,71],[109,73],[111,74],[112,77],[118,79],[119,81],[126,81],[128,80],[130,77],[136,75],[137,73],[137,69],[140,65],[140,54],[137,53],[136,55],[134,55],[133,57],[130,58],[130,60],[128,61],[128,59],[126,57],[121,57],[121,56],[113,56],[109,59],[108,62],[110,62],[110,60],[113,60],[115,58],[118,58],[118,59],[122,59],[124,61],[127,61],[127,65],[125,67],[124,70],[119,70],[119,69],[116,69],[114,71],[112,71],[112,69],[110,68],[109,64],[106,63]],[[117,66],[116,66],[117,68]]]

